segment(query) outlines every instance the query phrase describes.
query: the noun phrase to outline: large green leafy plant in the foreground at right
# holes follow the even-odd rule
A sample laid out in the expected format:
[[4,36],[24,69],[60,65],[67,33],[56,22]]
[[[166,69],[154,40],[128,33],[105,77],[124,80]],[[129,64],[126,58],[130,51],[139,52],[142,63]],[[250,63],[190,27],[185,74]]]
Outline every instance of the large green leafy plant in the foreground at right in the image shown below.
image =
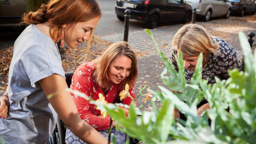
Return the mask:
[[[152,36],[152,33],[146,29]],[[156,44],[154,37],[153,41]],[[161,92],[149,90],[153,94],[151,99],[151,112],[140,111],[133,103],[130,106],[122,104],[96,104],[101,111],[107,112],[119,123],[122,132],[130,137],[142,140],[143,143],[256,143],[256,54],[252,55],[247,37],[239,32],[239,40],[244,55],[245,72],[237,69],[229,71],[228,80],[216,79],[216,83],[208,85],[207,80],[202,80],[202,54],[195,69],[190,84],[186,84],[183,58],[181,53],[177,59],[179,72],[172,67],[164,54],[157,51],[165,63],[165,69],[161,73],[163,83],[178,93],[172,93],[169,89],[158,86]],[[170,76],[166,76],[167,72]],[[199,85],[202,90],[200,90]],[[186,88],[189,87],[189,91]],[[210,108],[204,111],[202,117],[197,116],[197,104],[205,97]],[[161,101],[161,108],[156,108],[155,101]],[[185,102],[186,103],[185,103]],[[128,117],[118,105],[129,108]],[[187,121],[175,122],[173,108],[177,107],[184,113]],[[232,116],[225,110],[231,109]],[[138,116],[141,115],[141,116]],[[211,119],[211,126],[208,125]],[[117,127],[118,129],[118,127]]]

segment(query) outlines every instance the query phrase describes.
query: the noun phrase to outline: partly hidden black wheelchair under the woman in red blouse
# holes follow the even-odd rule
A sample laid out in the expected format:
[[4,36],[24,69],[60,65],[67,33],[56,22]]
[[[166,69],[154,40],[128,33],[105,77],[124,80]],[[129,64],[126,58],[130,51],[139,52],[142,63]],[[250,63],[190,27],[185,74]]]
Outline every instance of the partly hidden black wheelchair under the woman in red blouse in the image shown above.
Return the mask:
[[[68,87],[70,87],[70,85],[71,85],[71,80],[72,80],[73,74],[74,73],[65,74],[66,83],[67,83]],[[55,125],[55,129],[46,144],[66,144],[65,143],[66,130],[67,130],[67,127],[65,126],[63,121],[61,121],[61,119],[58,116],[57,123]],[[140,141],[138,141],[137,139],[129,137],[129,140],[130,140],[130,144],[140,144]]]

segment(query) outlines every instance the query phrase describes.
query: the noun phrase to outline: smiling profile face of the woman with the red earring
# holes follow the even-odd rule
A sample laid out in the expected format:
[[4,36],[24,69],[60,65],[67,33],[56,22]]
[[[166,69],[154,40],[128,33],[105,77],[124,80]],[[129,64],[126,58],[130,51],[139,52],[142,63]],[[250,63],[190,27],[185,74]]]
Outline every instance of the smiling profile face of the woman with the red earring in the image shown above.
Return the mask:
[[74,24],[64,25],[64,41],[71,48],[77,48],[84,40],[88,41],[93,28],[99,22],[99,16],[94,19]]

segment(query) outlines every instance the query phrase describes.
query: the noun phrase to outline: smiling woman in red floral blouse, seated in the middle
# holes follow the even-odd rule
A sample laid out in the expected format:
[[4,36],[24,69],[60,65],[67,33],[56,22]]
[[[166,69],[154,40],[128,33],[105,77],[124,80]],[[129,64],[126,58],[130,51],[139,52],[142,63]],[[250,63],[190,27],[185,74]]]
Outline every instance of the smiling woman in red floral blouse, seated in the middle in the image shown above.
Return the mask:
[[[120,100],[119,93],[129,84],[129,93],[135,99],[135,81],[138,75],[137,58],[131,46],[125,41],[119,41],[110,45],[103,55],[92,62],[84,63],[77,67],[70,85],[71,89],[83,92],[90,98],[97,100],[101,93],[108,103],[115,103]],[[72,94],[80,118],[95,128],[106,139],[110,127],[110,117],[104,117],[96,106],[89,104],[88,100],[76,97]],[[122,99],[123,104],[129,105],[132,99]],[[135,101],[136,104],[136,101]],[[113,122],[115,127],[116,122]],[[118,144],[124,144],[125,134],[116,132]],[[69,129],[66,132],[66,143],[83,142],[78,139]]]

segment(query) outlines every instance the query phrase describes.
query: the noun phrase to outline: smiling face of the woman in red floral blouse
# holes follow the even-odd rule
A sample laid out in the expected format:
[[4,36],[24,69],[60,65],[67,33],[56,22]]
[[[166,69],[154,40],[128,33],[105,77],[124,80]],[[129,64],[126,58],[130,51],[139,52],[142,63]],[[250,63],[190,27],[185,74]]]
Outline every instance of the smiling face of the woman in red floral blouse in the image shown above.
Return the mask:
[[119,84],[131,73],[132,60],[124,55],[117,56],[109,64],[108,77],[114,84]]

